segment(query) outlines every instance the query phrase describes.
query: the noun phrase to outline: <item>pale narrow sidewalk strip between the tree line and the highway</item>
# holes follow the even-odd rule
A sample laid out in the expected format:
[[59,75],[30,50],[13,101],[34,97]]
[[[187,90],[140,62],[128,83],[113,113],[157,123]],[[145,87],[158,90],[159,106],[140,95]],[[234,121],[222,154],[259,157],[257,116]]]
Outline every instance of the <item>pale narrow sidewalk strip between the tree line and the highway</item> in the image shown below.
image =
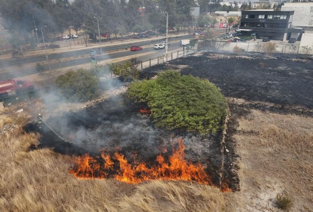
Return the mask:
[[[180,36],[184,36],[184,35],[189,35],[189,33],[182,33],[182,34],[173,34],[170,37],[180,37]],[[128,43],[137,43],[137,42],[143,42],[143,41],[153,41],[153,40],[160,40],[162,38],[164,38],[165,35],[160,35],[158,37],[150,37],[150,38],[143,38],[143,39],[128,39],[128,40],[123,40],[123,41],[114,41],[114,42],[106,42],[105,44],[101,43],[101,47],[105,47],[105,46],[115,46],[115,45],[119,45],[119,44],[128,44]],[[62,52],[68,52],[68,51],[75,51],[75,50],[83,50],[83,49],[92,49],[95,47],[100,47],[98,43],[95,44],[91,44],[89,46],[71,46],[71,47],[64,47],[64,48],[55,48],[55,50],[48,48],[47,49],[47,54],[51,55],[51,54],[57,54],[57,53],[62,53]],[[45,50],[44,49],[40,49],[40,50],[33,50],[33,51],[27,51],[27,52],[23,52],[23,57],[31,57],[31,56],[39,56],[39,55],[45,55]],[[0,55],[0,60],[8,60],[8,59],[12,59],[12,55],[11,54],[7,54],[7,55]]]

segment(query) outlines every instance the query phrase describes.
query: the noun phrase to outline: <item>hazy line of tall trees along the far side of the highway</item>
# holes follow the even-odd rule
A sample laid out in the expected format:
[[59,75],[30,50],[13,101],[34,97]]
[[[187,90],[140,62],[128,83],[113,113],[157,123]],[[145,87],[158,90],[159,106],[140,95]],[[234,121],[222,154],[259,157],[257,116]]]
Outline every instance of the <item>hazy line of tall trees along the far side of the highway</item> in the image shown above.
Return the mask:
[[[0,0],[0,23],[18,40],[31,42],[40,30],[63,34],[83,29],[96,33],[99,20],[100,33],[123,36],[129,32],[143,32],[165,28],[169,13],[170,27],[192,25],[190,12],[193,0]],[[36,30],[37,29],[37,30]],[[165,31],[165,30],[164,30]]]

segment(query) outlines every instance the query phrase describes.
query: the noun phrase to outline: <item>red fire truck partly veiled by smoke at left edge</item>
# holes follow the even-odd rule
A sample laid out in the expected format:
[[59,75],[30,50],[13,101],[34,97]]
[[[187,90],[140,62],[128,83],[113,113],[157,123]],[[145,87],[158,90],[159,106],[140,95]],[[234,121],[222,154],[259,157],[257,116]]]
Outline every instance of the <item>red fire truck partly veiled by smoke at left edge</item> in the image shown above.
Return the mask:
[[23,93],[35,89],[35,85],[31,81],[9,79],[0,81],[0,98],[4,98],[17,93]]

